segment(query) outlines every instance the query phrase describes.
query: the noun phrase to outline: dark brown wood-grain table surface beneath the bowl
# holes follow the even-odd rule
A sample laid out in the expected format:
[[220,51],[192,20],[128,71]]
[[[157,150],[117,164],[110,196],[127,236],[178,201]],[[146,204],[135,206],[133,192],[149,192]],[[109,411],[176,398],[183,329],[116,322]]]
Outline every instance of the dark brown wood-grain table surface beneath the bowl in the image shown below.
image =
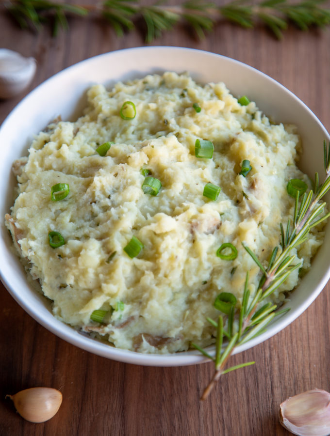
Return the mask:
[[[99,19],[72,17],[69,25],[69,31],[53,38],[48,29],[20,31],[0,13],[0,47],[38,62],[27,92],[83,59],[145,45],[139,31],[119,39]],[[278,41],[261,27],[244,30],[220,23],[198,41],[178,27],[152,45],[194,47],[245,62],[295,93],[330,128],[330,28],[302,32],[290,27]],[[0,101],[0,123],[23,96]],[[315,387],[330,390],[329,284],[289,327],[234,356],[232,364],[256,364],[223,376],[205,402],[199,397],[212,363],[150,368],[94,356],[37,324],[2,285],[0,298],[1,436],[288,435],[279,423],[280,403]],[[24,421],[4,399],[34,386],[63,393],[59,412],[46,423]]]

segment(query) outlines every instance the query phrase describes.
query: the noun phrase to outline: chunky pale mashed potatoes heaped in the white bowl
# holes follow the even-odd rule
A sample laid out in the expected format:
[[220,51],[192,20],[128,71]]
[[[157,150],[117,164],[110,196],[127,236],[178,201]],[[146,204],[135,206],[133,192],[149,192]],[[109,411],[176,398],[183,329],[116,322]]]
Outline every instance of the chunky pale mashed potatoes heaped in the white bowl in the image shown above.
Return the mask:
[[[120,116],[125,101],[134,118]],[[212,158],[195,156],[197,139],[213,142]],[[165,73],[110,92],[96,85],[81,118],[49,125],[15,162],[18,192],[6,223],[60,320],[140,352],[205,346],[215,297],[231,292],[239,304],[246,272],[252,292],[260,280],[242,242],[266,261],[293,214],[288,181],[309,183],[296,167],[298,148],[293,126],[270,123],[253,102],[240,105],[223,83]],[[161,182],[157,195],[142,189],[141,170]],[[207,183],[221,187],[217,200],[203,195]],[[57,184],[69,193],[52,201]],[[52,248],[49,232],[64,244]],[[143,248],[130,257],[133,236]],[[322,236],[314,231],[299,249],[304,268]],[[237,249],[235,259],[216,256],[223,243]],[[296,270],[272,301],[280,304],[298,280]]]

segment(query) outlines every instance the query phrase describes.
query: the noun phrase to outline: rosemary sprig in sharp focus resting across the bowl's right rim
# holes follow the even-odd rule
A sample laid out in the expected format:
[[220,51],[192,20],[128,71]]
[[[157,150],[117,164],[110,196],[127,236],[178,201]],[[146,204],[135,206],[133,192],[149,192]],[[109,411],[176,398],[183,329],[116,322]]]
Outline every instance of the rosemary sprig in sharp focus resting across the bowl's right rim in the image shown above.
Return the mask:
[[[236,312],[236,298],[230,293],[229,295],[233,298],[228,298],[226,294],[225,307],[227,313],[228,302],[233,302],[228,314],[227,330],[224,329],[224,319],[222,315],[219,315],[217,322],[208,318],[208,321],[216,328],[215,356],[211,356],[206,350],[193,344],[205,357],[214,362],[214,375],[203,392],[202,400],[207,398],[215,382],[221,375],[255,363],[246,362],[226,368],[228,359],[237,346],[247,343],[247,341],[263,333],[265,327],[275,316],[287,311],[277,311],[277,306],[270,302],[263,306],[261,306],[260,303],[279,288],[294,270],[301,266],[300,262],[295,263],[297,256],[292,254],[292,250],[307,240],[308,234],[313,227],[330,217],[330,213],[324,214],[323,212],[326,202],[320,202],[321,198],[330,189],[330,145],[329,149],[327,149],[326,141],[324,141],[323,146],[324,168],[326,172],[325,180],[319,185],[318,173],[316,172],[314,190],[311,190],[308,194],[304,193],[303,195],[299,195],[299,191],[297,191],[292,223],[289,219],[285,231],[283,225],[280,224],[280,247],[273,249],[268,265],[264,266],[253,251],[249,249],[247,245],[243,244],[248,254],[259,266],[261,279],[255,294],[250,295],[247,272],[242,303]],[[323,215],[320,216],[322,212]],[[236,327],[234,320],[237,321]],[[223,347],[224,339],[228,339],[228,343],[225,347]]]

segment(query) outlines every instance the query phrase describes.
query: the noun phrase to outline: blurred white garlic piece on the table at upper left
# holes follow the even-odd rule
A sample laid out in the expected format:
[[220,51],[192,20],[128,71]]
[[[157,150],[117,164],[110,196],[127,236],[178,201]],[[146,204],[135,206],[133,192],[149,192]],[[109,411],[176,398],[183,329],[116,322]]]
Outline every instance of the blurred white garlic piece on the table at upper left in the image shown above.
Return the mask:
[[35,70],[35,59],[0,48],[0,98],[11,98],[23,92],[30,85]]

